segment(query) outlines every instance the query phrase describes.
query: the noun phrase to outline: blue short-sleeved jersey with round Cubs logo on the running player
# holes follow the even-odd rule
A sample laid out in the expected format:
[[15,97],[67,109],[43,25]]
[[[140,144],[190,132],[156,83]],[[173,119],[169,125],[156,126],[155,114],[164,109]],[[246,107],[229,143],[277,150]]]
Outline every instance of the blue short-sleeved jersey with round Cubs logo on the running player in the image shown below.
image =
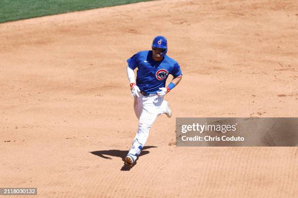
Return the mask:
[[140,51],[127,59],[131,69],[137,70],[136,85],[141,91],[156,94],[159,88],[166,87],[168,74],[174,78],[182,75],[179,64],[165,55],[162,61],[154,61],[152,50]]

